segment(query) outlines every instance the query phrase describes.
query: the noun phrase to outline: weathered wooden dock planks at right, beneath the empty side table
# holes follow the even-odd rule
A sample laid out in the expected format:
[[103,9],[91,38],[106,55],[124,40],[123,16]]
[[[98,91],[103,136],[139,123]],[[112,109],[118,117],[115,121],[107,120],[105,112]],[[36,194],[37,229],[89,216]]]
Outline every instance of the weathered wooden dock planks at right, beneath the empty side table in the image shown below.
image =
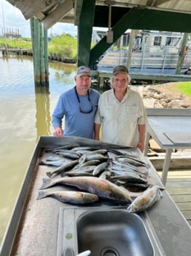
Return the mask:
[[[161,176],[161,171],[158,171]],[[191,226],[191,169],[168,172],[166,189]]]

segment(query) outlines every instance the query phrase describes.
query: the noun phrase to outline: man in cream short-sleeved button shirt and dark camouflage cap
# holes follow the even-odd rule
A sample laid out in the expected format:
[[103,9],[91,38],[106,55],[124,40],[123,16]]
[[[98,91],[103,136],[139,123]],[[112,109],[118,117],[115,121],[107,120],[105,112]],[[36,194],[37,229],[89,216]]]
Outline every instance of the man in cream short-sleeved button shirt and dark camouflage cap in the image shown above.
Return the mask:
[[101,94],[95,117],[95,139],[144,151],[147,114],[141,95],[128,87],[126,66],[113,69],[112,89]]

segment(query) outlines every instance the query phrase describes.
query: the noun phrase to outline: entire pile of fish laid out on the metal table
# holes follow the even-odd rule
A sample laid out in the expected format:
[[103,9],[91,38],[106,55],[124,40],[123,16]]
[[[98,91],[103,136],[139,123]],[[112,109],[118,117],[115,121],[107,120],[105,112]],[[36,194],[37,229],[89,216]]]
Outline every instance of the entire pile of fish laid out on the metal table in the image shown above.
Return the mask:
[[[46,152],[50,156],[39,164],[52,165],[53,171],[46,172],[37,199],[53,197],[63,203],[85,204],[103,198],[128,204],[128,211],[138,212],[161,198],[161,189],[147,181],[148,164],[131,149],[65,145]],[[57,185],[80,191],[44,190]]]

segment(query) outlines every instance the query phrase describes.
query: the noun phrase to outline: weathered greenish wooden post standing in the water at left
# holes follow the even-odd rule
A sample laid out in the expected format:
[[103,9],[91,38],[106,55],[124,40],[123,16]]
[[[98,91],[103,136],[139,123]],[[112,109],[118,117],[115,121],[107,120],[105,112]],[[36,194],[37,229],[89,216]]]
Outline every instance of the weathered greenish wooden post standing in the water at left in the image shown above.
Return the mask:
[[31,39],[33,45],[33,68],[35,85],[49,86],[47,30],[41,22],[30,18]]

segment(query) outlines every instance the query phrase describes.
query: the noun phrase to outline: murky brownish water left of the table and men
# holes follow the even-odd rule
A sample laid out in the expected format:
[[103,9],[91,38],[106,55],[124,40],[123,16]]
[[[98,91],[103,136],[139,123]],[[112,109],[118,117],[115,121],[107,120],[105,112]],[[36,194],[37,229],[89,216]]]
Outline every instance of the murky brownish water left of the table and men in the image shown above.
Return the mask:
[[0,244],[39,136],[51,135],[58,96],[74,85],[76,65],[50,63],[49,90],[37,90],[33,61],[0,53]]

